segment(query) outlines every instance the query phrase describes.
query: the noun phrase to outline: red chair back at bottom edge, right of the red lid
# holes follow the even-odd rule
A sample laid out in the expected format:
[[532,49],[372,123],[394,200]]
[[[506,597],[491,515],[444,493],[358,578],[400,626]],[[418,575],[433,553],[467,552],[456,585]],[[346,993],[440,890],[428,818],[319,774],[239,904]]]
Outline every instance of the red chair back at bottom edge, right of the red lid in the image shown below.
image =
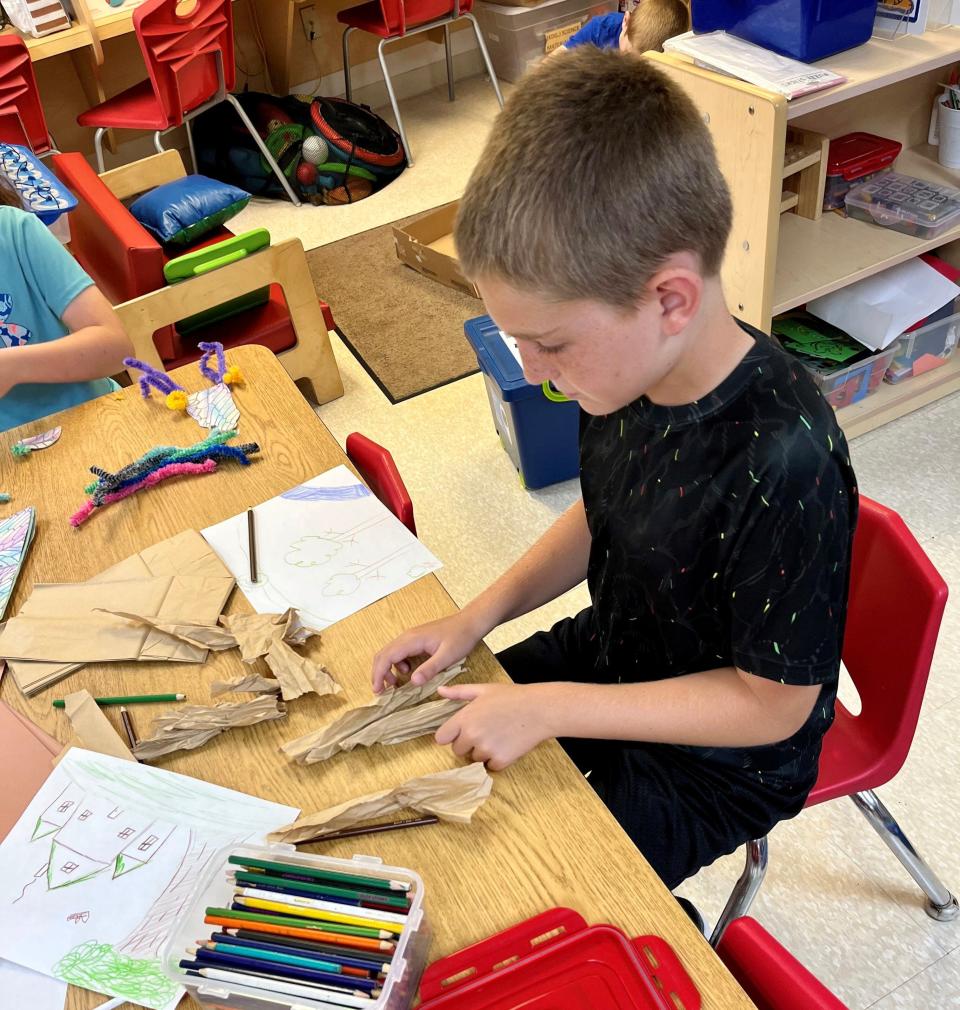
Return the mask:
[[848,1010],[756,919],[735,919],[716,952],[757,1010]]

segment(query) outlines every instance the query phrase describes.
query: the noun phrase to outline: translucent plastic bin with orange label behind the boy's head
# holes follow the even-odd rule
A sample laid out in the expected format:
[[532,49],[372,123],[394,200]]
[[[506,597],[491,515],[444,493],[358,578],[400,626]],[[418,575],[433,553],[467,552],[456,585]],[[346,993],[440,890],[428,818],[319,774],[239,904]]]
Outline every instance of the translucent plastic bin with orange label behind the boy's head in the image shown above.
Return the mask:
[[615,0],[546,0],[536,7],[477,0],[473,7],[493,69],[503,81],[518,81],[529,67],[543,59],[548,32],[614,10]]

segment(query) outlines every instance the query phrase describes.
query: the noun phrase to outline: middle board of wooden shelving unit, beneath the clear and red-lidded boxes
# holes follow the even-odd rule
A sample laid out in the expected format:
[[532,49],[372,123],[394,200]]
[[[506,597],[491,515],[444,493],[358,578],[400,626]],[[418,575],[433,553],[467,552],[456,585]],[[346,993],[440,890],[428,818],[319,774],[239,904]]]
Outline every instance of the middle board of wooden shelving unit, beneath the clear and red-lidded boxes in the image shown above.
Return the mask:
[[[928,144],[904,150],[894,170],[932,182],[960,186],[960,173],[940,165],[937,148]],[[846,287],[956,238],[960,238],[960,225],[937,238],[925,239],[839,214],[825,213],[818,221],[786,214],[780,219],[773,312],[796,308],[811,298]]]

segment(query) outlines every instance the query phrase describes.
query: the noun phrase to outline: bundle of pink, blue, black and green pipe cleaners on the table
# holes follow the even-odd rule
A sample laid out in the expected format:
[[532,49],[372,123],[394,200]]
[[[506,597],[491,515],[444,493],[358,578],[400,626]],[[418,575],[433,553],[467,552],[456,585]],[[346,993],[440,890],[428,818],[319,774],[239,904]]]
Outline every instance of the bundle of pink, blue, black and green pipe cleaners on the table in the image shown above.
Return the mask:
[[113,474],[102,467],[91,467],[90,472],[97,480],[84,488],[90,499],[71,516],[71,524],[79,526],[95,509],[121,501],[168,477],[212,473],[219,460],[234,460],[241,466],[249,466],[249,457],[259,452],[260,446],[256,442],[227,445],[235,434],[232,430],[213,431],[195,445],[158,445]]

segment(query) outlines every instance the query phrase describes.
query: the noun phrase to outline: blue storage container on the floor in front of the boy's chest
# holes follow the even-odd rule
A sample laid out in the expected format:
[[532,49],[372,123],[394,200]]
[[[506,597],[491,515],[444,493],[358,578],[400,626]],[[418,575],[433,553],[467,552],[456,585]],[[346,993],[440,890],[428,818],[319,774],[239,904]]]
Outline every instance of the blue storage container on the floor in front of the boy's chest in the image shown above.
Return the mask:
[[525,488],[580,473],[580,406],[532,386],[489,316],[468,319],[464,333],[477,355],[493,423]]

